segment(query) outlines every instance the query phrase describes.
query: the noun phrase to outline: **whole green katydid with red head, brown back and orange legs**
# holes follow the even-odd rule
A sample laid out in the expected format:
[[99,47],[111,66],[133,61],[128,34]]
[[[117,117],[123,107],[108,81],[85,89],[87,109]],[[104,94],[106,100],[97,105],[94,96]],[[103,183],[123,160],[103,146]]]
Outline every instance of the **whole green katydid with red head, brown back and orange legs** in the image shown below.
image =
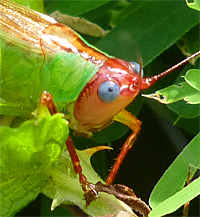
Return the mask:
[[[101,52],[53,18],[7,0],[1,0],[0,7],[1,114],[30,114],[41,96],[40,103],[47,105],[52,115],[68,110],[66,119],[78,134],[91,137],[93,131],[114,121],[127,125],[132,133],[106,180],[111,185],[141,128],[141,122],[125,108],[141,90],[200,55],[200,51],[158,75],[142,78],[141,64],[138,67]],[[82,174],[70,138],[66,144],[90,203],[98,192]]]

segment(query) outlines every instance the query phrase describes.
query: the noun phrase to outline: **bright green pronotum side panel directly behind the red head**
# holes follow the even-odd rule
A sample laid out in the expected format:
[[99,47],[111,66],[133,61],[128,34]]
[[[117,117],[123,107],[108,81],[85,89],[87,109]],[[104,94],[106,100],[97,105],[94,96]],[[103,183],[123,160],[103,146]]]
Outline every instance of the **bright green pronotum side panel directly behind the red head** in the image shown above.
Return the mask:
[[99,67],[78,54],[58,54],[52,60],[49,58],[43,66],[42,87],[53,94],[55,103],[67,104],[76,100]]

